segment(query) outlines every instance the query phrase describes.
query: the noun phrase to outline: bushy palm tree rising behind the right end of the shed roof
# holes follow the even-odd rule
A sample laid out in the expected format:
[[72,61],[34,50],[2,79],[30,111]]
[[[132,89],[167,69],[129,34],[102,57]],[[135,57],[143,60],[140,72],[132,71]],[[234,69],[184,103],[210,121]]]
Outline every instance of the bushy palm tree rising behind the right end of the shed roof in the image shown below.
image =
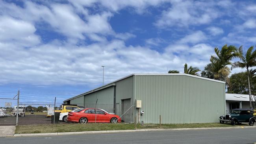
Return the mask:
[[[239,52],[237,51],[236,46],[227,46],[225,44],[221,50],[219,48],[214,48],[216,55],[211,55],[210,61],[213,66],[214,79],[223,80],[226,76],[223,76],[222,70],[225,69],[225,66],[231,65],[231,60],[235,57],[239,57]],[[229,72],[229,71],[226,71]],[[226,74],[226,73],[225,73]],[[230,72],[228,73],[228,75]]]

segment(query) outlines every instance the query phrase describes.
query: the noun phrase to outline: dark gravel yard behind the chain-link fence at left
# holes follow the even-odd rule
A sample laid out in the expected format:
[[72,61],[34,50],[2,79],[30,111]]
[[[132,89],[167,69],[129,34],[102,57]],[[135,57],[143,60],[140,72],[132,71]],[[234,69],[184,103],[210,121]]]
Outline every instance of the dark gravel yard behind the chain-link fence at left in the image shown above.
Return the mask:
[[[25,115],[25,117],[19,117],[18,124],[19,125],[51,124],[51,118],[46,118],[45,115]],[[11,125],[16,125],[16,117],[12,117],[12,116],[0,117],[0,126],[11,126]]]

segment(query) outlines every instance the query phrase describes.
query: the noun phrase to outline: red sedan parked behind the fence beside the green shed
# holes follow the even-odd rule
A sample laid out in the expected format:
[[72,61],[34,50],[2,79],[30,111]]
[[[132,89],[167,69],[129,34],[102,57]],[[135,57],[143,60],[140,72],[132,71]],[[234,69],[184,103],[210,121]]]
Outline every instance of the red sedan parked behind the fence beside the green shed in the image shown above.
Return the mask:
[[81,111],[69,112],[67,116],[67,121],[86,124],[88,122],[95,122],[95,118],[96,118],[96,122],[111,122],[111,123],[121,122],[121,118],[119,118],[118,115],[115,115],[114,113],[109,113],[104,109],[96,109],[96,114],[95,114],[94,108],[87,108],[87,109],[82,109]]

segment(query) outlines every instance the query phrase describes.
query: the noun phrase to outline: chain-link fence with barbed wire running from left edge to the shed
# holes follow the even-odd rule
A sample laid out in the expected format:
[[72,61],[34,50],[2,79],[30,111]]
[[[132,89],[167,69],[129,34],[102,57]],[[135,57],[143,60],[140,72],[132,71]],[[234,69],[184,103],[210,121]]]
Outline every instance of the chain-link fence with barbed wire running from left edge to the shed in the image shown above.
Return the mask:
[[[107,102],[100,103],[74,103],[74,104],[63,104],[61,101],[55,102],[54,99],[45,99],[42,101],[33,100],[24,101],[19,98],[19,107],[18,99],[10,98],[0,98],[0,125],[38,125],[38,124],[51,124],[52,115],[55,112],[60,112],[60,117],[57,120],[57,123],[66,124],[67,114],[69,111],[78,108],[93,108],[93,109],[103,109],[109,114],[116,114],[120,117],[121,122],[133,123],[134,122],[134,105],[131,105],[131,101],[122,100],[121,103],[117,104],[108,104]],[[96,122],[102,122],[100,118],[101,113],[96,114]],[[18,119],[17,119],[18,114]],[[109,118],[109,116],[107,116]],[[18,120],[18,121],[17,121]],[[94,120],[94,122],[95,122]],[[59,121],[59,122],[58,122]],[[109,120],[110,121],[110,120]],[[56,122],[56,121],[55,121]],[[105,121],[106,122],[106,121]]]

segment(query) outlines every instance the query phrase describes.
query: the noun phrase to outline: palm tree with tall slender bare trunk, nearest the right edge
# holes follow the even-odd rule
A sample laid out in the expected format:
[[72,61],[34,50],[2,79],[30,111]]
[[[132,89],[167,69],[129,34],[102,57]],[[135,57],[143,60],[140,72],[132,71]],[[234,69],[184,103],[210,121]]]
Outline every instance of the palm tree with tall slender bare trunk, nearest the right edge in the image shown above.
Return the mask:
[[256,66],[256,50],[253,51],[253,46],[251,46],[246,54],[243,53],[243,47],[240,46],[239,48],[239,58],[241,59],[240,61],[237,61],[235,63],[232,64],[232,68],[246,68],[247,70],[247,79],[248,79],[248,88],[249,88],[249,97],[250,97],[250,109],[252,108],[252,95],[251,95],[251,91],[250,91],[250,71],[249,68]]

